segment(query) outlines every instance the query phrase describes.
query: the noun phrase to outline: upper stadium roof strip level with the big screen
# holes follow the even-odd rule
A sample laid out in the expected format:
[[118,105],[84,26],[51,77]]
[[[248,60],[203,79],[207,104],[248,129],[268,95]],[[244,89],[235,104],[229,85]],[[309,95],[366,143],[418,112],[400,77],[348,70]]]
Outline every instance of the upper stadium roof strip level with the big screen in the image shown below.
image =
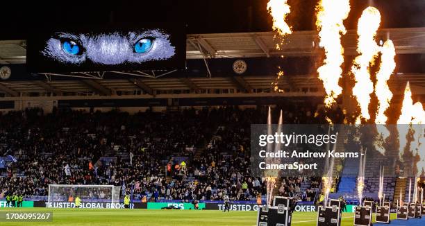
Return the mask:
[[[316,31],[297,31],[285,37],[276,51],[273,32],[192,34],[186,41],[186,58],[254,58],[269,56],[311,56],[322,54],[317,47]],[[378,32],[378,40],[390,39],[397,54],[425,53],[425,28],[387,28]],[[356,55],[356,31],[342,37],[346,55]],[[0,41],[0,64],[26,62],[26,40]]]

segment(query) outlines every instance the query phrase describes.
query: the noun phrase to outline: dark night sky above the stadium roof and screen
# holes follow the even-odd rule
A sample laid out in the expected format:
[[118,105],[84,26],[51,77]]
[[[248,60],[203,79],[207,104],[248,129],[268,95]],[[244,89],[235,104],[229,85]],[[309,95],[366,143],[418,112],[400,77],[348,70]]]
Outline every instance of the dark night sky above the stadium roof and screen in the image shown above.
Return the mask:
[[[22,39],[28,28],[53,24],[149,23],[182,21],[188,33],[230,33],[270,31],[269,0],[138,0],[138,1],[34,1],[1,2],[0,39]],[[315,29],[318,0],[289,0],[289,24],[295,31]],[[351,0],[347,28],[356,28],[357,19],[369,4],[383,18],[382,28],[425,26],[424,0]]]

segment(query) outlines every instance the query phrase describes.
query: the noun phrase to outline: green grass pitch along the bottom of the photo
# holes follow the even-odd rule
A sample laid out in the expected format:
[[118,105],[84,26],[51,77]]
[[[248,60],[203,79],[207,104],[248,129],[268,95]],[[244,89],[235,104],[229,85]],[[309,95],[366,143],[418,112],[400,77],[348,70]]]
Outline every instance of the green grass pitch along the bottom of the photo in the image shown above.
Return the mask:
[[[150,210],[150,209],[12,209],[0,211],[52,211],[50,223],[3,223],[0,225],[149,225],[149,226],[199,226],[199,225],[256,225],[256,211],[231,211],[223,213],[214,210]],[[292,225],[316,225],[317,212],[296,212]],[[395,218],[395,214],[392,214]],[[353,225],[353,214],[342,214],[342,225]]]

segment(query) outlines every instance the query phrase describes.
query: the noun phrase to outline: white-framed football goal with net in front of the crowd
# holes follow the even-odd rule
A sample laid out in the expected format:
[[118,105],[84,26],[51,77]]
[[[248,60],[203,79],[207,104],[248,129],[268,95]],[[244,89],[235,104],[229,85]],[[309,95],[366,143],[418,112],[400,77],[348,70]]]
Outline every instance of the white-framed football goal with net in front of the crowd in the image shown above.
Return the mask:
[[113,185],[49,184],[47,207],[72,208],[78,197],[82,207],[115,208],[119,204],[120,189]]

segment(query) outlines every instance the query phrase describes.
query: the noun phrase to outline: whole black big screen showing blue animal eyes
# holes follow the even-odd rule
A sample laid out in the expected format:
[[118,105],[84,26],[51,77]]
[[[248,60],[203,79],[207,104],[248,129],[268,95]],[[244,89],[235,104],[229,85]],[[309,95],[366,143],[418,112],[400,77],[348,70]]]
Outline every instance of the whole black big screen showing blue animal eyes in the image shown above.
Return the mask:
[[183,25],[40,28],[28,37],[30,72],[184,69]]

